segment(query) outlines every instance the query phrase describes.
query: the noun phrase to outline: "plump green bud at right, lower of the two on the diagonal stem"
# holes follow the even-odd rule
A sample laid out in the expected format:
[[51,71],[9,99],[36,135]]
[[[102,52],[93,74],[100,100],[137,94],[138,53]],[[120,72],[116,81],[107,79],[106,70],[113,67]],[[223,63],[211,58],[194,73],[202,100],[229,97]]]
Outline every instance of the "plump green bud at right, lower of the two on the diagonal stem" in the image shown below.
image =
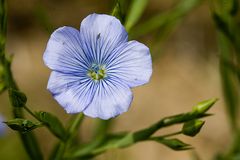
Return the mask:
[[182,133],[186,136],[194,137],[200,132],[204,123],[205,122],[201,120],[192,120],[185,122],[182,128]]

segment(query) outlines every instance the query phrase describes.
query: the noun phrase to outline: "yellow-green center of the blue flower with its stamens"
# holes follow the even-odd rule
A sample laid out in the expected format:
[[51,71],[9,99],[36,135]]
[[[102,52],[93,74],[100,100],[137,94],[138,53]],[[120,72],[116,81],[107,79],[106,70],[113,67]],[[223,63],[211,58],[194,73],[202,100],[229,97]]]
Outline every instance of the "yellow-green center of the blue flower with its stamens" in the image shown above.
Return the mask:
[[92,64],[87,75],[95,81],[101,80],[107,76],[104,65]]

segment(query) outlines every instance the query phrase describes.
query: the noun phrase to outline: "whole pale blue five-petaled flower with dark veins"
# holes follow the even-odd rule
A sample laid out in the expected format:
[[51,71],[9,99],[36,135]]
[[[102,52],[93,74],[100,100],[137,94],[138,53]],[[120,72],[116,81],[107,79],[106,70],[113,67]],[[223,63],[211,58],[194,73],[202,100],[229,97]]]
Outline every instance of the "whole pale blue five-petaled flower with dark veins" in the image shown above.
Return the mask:
[[152,74],[148,47],[128,41],[121,22],[105,14],[87,16],[80,30],[58,28],[43,59],[53,70],[47,88],[56,101],[67,113],[93,118],[126,112],[131,88],[147,83]]

